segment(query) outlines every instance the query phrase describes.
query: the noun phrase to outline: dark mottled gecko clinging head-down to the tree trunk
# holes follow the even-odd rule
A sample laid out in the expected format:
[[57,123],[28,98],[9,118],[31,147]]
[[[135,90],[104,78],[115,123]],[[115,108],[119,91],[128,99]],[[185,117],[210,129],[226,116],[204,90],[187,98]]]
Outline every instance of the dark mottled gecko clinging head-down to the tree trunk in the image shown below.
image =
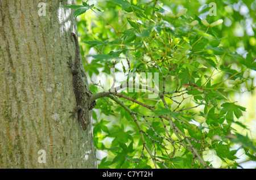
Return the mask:
[[71,117],[75,117],[78,113],[79,122],[82,124],[82,129],[86,130],[90,123],[89,110],[92,110],[96,106],[96,101],[91,101],[90,97],[92,92],[89,91],[89,87],[86,87],[84,80],[82,80],[82,70],[80,68],[80,49],[79,42],[75,33],[71,33],[71,40],[75,40],[76,57],[75,62],[72,63],[72,57],[69,57],[68,67],[71,68],[73,74],[73,88],[76,96],[76,108],[73,110]]

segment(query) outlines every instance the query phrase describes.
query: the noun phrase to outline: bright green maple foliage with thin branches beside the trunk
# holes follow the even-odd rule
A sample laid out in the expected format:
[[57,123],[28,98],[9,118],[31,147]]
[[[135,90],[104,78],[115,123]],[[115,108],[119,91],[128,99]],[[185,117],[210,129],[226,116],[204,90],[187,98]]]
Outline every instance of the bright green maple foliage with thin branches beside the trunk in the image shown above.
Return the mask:
[[[76,8],[75,16],[86,12],[79,22],[82,53],[97,52],[85,55],[93,59],[85,61],[90,77],[110,74],[110,68],[125,77],[129,72],[159,74],[157,98],[148,98],[151,92],[140,86],[138,92],[120,92],[118,100],[97,100],[94,144],[108,153],[99,168],[211,168],[210,153],[222,167],[238,168],[240,149],[255,161],[255,141],[234,128],[249,130],[240,121],[246,109],[232,101],[234,93],[253,93],[249,74],[256,70],[255,51],[246,44],[246,57],[238,54],[231,45],[235,37],[225,37],[228,29],[217,18],[224,19],[234,5],[225,3],[218,3],[216,17],[207,16],[210,25],[195,11],[209,8],[198,2],[181,3],[183,8],[169,1],[127,0],[99,2],[98,8],[85,2],[65,6]],[[233,13],[230,19],[238,16]],[[90,89],[99,93],[99,86],[93,82]]]

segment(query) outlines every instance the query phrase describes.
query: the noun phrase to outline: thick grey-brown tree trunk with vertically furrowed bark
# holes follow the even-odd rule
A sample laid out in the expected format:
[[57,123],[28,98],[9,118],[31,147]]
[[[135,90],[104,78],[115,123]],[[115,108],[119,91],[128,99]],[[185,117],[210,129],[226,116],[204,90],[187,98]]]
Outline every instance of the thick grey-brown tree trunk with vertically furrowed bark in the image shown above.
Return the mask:
[[0,168],[97,168],[91,123],[69,118],[73,2],[44,2],[0,1]]

